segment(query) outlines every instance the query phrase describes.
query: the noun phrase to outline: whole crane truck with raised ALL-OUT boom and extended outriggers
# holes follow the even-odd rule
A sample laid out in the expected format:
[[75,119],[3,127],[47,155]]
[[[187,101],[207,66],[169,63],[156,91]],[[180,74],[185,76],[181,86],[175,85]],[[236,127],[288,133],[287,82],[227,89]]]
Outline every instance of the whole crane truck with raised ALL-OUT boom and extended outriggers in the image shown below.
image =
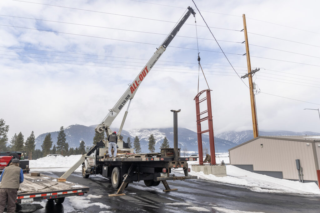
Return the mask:
[[[125,105],[130,106],[131,100],[137,92],[141,82],[146,78],[152,67],[156,64],[159,58],[162,56],[172,39],[178,33],[182,25],[186,22],[188,17],[195,11],[188,7],[188,11],[172,29],[170,34],[166,37],[164,42],[156,48],[156,52],[150,58],[148,63],[142,68],[138,76],[129,84],[128,89],[118,100],[116,105],[109,110],[105,119],[95,128],[98,133],[106,132],[108,135],[113,131],[110,129],[110,125],[113,120],[124,108]],[[121,134],[124,121],[126,119],[128,108],[124,113],[124,118],[117,133],[118,139]],[[68,176],[82,165],[82,176],[88,178],[90,175],[100,174],[108,179],[111,179],[112,186],[118,189],[114,195],[123,195],[123,190],[133,181],[143,180],[146,186],[158,186],[160,182],[163,183],[165,190],[172,191],[177,189],[171,189],[167,183],[167,180],[185,180],[185,179],[197,179],[196,176],[189,176],[188,161],[196,160],[196,158],[180,157],[178,149],[177,139],[177,122],[176,115],[180,110],[171,110],[174,113],[174,148],[162,148],[160,153],[144,153],[133,154],[132,149],[123,146],[123,141],[118,142],[120,148],[126,148],[129,150],[127,153],[119,153],[116,158],[109,158],[108,153],[108,141],[101,140],[93,146],[88,153],[83,155],[79,161],[74,164],[61,178],[68,178]],[[185,176],[170,176],[172,169],[180,169],[184,171]],[[110,195],[109,195],[110,196]]]

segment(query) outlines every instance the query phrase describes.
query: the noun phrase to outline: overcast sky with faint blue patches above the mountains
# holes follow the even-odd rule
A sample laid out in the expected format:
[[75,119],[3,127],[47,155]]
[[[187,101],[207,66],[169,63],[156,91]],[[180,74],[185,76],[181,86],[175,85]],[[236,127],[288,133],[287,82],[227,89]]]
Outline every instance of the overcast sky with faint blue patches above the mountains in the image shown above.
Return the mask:
[[[186,8],[196,10],[189,0],[29,1],[0,1],[0,118],[9,140],[20,131],[26,139],[31,131],[100,123]],[[320,132],[318,111],[303,110],[320,104],[319,1],[195,2],[240,76],[248,72],[246,15],[252,69],[260,67],[253,77],[259,129]],[[170,110],[181,109],[179,127],[196,131],[196,29],[215,133],[252,129],[248,79],[220,53],[198,11],[196,21],[197,28],[189,17],[141,83],[124,129],[172,127]],[[199,79],[199,91],[207,89]]]

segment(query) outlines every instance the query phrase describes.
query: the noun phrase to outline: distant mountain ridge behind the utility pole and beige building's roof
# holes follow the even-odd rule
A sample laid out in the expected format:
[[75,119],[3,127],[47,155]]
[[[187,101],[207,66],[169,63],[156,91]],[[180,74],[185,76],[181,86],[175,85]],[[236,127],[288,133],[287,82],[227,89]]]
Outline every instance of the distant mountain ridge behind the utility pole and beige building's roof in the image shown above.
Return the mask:
[[[261,136],[280,136],[280,135],[320,135],[320,133],[315,132],[291,132],[291,131],[272,131],[272,132],[266,132],[266,131],[259,131],[259,135]],[[253,131],[252,130],[245,130],[241,132],[235,132],[235,131],[228,131],[223,132],[220,134],[215,134],[216,137],[222,138],[228,141],[232,141],[235,144],[240,144],[245,141],[249,141],[253,139]]]

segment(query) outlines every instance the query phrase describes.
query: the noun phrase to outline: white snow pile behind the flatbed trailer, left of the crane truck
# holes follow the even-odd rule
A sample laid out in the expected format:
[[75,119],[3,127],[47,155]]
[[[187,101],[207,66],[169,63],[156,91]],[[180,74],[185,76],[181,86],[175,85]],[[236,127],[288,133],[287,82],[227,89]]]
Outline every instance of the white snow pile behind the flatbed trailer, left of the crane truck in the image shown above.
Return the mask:
[[[74,165],[82,155],[70,155],[70,156],[45,156],[36,160],[29,160],[30,169],[39,168],[70,168]],[[63,170],[65,171],[65,169]],[[81,171],[79,166],[76,171]]]

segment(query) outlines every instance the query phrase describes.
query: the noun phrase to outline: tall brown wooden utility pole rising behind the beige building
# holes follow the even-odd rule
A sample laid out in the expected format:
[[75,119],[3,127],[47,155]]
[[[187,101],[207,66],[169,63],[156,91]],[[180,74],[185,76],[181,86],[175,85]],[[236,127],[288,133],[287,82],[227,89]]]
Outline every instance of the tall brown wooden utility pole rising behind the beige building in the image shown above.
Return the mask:
[[250,89],[253,137],[256,138],[256,137],[259,136],[259,134],[258,134],[258,122],[257,122],[257,113],[256,113],[256,106],[255,106],[254,94],[253,94],[252,72],[251,72],[249,42],[248,42],[247,24],[246,24],[246,21],[245,21],[245,14],[243,14],[242,17],[243,17],[244,41],[245,41],[245,49],[246,49],[247,65],[248,65],[248,78],[249,78],[249,89]]

